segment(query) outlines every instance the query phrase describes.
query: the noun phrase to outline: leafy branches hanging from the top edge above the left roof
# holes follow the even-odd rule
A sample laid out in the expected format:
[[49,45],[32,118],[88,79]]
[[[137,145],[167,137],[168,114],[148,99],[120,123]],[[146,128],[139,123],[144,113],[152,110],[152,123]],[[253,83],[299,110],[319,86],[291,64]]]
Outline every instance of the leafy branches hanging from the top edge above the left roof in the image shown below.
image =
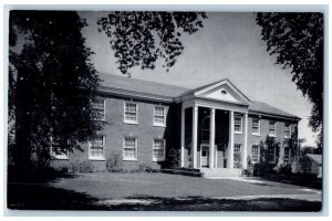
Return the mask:
[[193,34],[203,28],[204,12],[115,11],[98,19],[98,31],[110,38],[118,70],[129,74],[134,66],[154,69],[158,59],[168,71],[181,54],[183,33]]

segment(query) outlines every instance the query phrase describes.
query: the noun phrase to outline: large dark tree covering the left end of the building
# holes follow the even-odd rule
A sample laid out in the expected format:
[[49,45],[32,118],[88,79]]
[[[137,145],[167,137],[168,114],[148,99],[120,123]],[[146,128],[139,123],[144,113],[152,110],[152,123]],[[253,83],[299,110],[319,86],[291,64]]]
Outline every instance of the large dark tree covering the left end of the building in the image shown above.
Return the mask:
[[45,166],[51,150],[81,149],[102,126],[92,117],[98,80],[81,34],[85,25],[71,11],[10,12],[10,151],[18,172],[32,168],[32,159]]

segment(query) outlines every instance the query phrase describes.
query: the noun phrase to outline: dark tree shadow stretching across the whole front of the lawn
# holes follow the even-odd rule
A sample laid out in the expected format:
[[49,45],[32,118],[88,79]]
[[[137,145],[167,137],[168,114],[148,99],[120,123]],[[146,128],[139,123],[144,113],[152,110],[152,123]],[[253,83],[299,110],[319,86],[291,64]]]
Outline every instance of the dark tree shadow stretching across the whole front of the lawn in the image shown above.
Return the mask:
[[[145,203],[142,203],[142,201]],[[100,200],[85,193],[54,188],[48,185],[8,185],[8,208],[18,210],[303,212],[321,210],[321,202],[290,199],[220,200],[196,196],[185,198],[133,196],[124,199],[121,203],[114,202],[116,200]]]

